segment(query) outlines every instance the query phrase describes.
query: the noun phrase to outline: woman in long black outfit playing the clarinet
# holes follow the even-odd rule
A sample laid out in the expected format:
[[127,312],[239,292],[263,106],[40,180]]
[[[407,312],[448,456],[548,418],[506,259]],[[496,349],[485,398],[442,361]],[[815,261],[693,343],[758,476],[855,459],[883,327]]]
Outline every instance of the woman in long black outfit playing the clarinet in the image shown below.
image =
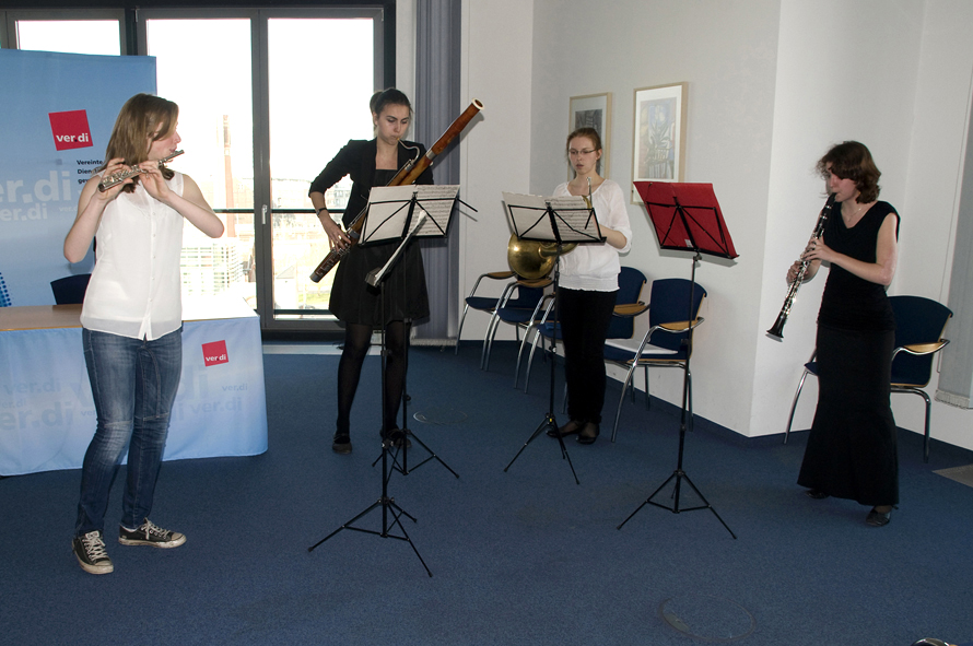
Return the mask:
[[[818,161],[834,198],[821,238],[801,255],[805,280],[831,267],[818,313],[818,409],[798,484],[812,498],[835,496],[872,508],[865,521],[888,525],[899,502],[899,460],[891,392],[895,320],[886,289],[895,274],[899,213],[878,201],[876,167],[857,141]],[[787,272],[797,275],[800,261]]]

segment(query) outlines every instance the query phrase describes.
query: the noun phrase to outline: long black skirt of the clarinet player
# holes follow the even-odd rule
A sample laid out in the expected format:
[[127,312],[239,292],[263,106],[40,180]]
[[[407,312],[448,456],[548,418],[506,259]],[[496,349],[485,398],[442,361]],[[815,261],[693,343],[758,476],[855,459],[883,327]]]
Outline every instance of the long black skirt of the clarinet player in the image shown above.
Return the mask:
[[891,395],[895,334],[818,326],[818,410],[797,483],[863,505],[899,503]]

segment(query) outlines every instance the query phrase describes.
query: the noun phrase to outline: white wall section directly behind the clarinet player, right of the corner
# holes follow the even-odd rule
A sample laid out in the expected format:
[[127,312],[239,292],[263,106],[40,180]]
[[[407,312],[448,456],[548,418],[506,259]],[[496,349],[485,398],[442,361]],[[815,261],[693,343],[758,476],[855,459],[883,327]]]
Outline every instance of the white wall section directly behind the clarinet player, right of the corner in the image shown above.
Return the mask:
[[[854,139],[868,145],[882,171],[881,199],[903,209],[922,25],[922,2],[914,0],[782,1],[760,307],[764,326],[770,327],[783,305],[785,272],[824,204],[824,183],[813,167],[831,144]],[[903,248],[903,257],[907,252]],[[783,343],[763,336],[766,327],[754,330],[749,435],[779,433],[787,423],[799,366],[814,348],[825,279],[822,271],[801,287]],[[816,400],[817,384],[810,379],[795,428],[810,426]]]

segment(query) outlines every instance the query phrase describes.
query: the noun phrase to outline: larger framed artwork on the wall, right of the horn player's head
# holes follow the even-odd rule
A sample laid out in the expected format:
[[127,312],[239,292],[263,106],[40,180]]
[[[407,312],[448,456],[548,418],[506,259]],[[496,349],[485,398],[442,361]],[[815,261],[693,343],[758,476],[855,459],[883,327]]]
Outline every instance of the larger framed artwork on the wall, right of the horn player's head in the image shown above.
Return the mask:
[[[633,181],[682,181],[685,172],[685,83],[635,91]],[[642,203],[632,187],[632,203]]]

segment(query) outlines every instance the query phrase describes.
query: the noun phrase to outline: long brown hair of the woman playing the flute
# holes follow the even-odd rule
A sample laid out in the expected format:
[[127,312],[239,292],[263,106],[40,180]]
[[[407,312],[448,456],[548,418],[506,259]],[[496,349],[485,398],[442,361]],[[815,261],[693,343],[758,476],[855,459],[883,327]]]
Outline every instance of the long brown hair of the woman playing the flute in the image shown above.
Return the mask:
[[[178,120],[179,106],[175,103],[152,94],[136,94],[125,102],[115,119],[105,151],[105,165],[116,157],[121,157],[129,166],[141,164],[149,157],[151,142],[169,137],[176,130]],[[175,173],[171,169],[162,168],[162,176],[166,179],[172,179],[173,175]],[[138,180],[139,176],[136,175],[134,181]],[[131,184],[122,190],[132,192],[134,189],[134,184]]]

